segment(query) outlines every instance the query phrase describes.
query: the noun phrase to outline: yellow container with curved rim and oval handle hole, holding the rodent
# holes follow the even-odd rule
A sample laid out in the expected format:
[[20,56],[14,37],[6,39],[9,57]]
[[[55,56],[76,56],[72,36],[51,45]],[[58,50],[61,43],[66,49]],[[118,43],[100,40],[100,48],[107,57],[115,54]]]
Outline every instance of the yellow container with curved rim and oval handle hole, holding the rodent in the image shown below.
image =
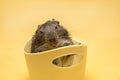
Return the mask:
[[[24,47],[25,59],[31,80],[83,80],[87,47],[84,43],[31,54],[31,40]],[[52,63],[58,57],[76,54],[73,66],[59,67]]]

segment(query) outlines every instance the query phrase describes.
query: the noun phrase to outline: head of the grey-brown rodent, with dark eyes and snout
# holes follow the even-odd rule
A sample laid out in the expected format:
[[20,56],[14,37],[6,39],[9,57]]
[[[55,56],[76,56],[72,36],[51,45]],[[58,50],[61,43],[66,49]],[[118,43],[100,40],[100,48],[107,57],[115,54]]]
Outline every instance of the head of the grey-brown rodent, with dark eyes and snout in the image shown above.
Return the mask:
[[47,21],[45,24],[42,24],[40,27],[40,33],[44,35],[45,40],[55,41],[59,38],[68,37],[68,31],[59,25],[58,21],[54,19]]

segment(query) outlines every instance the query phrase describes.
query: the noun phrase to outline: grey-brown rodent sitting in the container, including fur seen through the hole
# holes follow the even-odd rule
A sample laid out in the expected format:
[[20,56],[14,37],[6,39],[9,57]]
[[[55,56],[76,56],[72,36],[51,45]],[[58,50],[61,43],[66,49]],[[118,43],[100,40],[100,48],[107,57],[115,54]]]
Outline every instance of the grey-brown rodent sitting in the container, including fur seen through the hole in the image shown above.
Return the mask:
[[[73,45],[68,31],[59,24],[59,21],[52,19],[42,25],[38,25],[38,29],[32,37],[31,53],[68,45]],[[72,55],[67,55],[54,60],[53,63],[62,67],[70,66],[72,65],[73,59]]]

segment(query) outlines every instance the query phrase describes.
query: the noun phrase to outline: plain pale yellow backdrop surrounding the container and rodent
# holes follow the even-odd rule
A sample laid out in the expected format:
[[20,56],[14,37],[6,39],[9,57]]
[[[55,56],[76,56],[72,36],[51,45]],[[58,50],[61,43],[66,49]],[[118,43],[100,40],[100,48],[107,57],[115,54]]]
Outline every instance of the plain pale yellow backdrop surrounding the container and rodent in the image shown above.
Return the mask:
[[55,18],[88,45],[85,80],[120,80],[119,0],[0,0],[0,80],[28,80],[23,45]]

